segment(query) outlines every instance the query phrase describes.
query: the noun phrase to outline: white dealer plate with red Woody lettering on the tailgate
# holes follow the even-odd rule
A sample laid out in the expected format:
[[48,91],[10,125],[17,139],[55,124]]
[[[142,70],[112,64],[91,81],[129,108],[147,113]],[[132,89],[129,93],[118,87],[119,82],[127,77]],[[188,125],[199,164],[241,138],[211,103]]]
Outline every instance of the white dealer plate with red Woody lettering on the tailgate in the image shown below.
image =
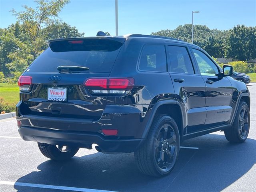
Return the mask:
[[48,101],[67,101],[67,90],[68,88],[64,87],[48,87]]

